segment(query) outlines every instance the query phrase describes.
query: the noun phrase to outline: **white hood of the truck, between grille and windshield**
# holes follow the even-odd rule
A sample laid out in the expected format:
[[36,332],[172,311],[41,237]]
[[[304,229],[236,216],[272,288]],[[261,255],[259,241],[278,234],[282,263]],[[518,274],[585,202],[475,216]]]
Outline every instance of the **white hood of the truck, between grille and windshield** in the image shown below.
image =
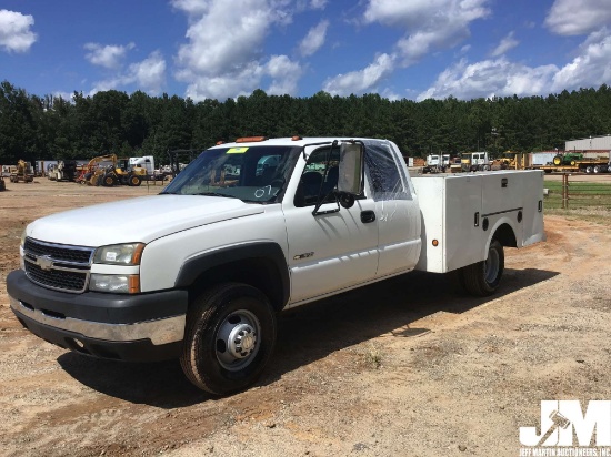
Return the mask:
[[90,247],[149,243],[171,233],[264,211],[263,205],[238,199],[151,195],[52,214],[32,222],[28,236]]

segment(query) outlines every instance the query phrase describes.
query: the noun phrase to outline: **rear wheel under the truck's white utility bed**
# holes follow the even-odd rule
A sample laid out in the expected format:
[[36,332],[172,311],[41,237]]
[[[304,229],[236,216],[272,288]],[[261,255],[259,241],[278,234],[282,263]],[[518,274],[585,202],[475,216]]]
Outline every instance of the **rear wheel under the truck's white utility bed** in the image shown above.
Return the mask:
[[462,268],[464,288],[471,295],[489,296],[497,292],[504,271],[503,246],[492,240],[488,258]]

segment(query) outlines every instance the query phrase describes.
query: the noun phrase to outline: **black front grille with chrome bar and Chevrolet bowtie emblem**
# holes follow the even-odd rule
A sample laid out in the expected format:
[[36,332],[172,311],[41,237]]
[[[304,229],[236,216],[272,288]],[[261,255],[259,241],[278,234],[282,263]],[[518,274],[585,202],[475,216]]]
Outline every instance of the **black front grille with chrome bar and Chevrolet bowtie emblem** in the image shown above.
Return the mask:
[[92,247],[26,238],[23,251],[26,274],[33,283],[72,293],[87,288]]

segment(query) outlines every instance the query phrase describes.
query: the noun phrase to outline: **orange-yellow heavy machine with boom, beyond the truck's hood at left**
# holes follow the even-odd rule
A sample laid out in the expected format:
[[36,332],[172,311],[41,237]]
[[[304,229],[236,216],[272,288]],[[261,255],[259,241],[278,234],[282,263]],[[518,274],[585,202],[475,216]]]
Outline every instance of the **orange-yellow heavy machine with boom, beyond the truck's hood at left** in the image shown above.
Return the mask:
[[117,159],[117,154],[93,158],[83,167],[77,182],[88,185],[140,185],[147,176],[147,170],[131,166],[128,158]]

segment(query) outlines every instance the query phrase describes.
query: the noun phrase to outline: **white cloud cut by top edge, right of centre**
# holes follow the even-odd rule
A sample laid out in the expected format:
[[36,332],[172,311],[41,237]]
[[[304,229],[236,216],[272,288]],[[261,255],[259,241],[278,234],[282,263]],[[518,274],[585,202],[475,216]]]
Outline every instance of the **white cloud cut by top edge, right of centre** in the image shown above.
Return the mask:
[[369,0],[364,22],[405,30],[397,43],[404,67],[439,49],[458,45],[470,35],[472,21],[490,14],[489,0]]

